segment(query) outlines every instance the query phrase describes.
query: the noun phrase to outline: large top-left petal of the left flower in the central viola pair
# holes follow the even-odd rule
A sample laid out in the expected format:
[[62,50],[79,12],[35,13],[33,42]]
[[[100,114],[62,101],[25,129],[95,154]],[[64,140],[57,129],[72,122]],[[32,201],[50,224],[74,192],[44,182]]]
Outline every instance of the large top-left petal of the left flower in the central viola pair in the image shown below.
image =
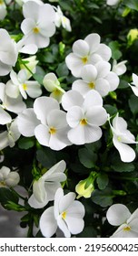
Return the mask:
[[43,96],[34,101],[34,112],[37,118],[44,124],[46,124],[48,113],[54,109],[59,109],[59,103],[53,98]]

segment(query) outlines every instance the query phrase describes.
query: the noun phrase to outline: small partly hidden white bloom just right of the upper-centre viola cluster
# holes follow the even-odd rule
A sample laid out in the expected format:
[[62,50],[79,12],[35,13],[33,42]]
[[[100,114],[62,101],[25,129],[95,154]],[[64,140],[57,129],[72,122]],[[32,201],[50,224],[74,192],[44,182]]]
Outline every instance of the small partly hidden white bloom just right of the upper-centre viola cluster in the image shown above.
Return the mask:
[[116,73],[118,76],[123,75],[126,72],[126,66],[125,63],[127,60],[123,60],[119,63],[117,63],[116,59],[113,59],[113,69],[112,71]]

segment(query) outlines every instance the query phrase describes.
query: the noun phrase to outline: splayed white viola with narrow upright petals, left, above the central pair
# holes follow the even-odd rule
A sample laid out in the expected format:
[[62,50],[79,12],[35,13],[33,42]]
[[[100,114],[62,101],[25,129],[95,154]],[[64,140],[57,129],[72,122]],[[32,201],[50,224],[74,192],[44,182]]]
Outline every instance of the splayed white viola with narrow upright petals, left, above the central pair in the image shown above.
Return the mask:
[[31,98],[39,97],[42,94],[40,84],[35,80],[28,80],[28,74],[25,69],[21,69],[18,74],[14,70],[10,73],[11,80],[6,83],[5,93],[10,98],[17,98],[21,93],[24,99],[27,94]]

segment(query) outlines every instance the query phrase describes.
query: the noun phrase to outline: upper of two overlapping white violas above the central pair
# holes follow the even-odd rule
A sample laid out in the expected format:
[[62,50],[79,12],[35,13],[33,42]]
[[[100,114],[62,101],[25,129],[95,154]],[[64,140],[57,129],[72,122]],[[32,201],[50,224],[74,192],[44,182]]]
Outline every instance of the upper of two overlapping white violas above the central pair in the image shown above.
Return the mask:
[[68,69],[76,78],[81,77],[82,68],[87,64],[95,64],[100,60],[108,61],[112,56],[111,48],[100,43],[101,37],[96,34],[90,34],[74,42],[73,52],[65,58]]

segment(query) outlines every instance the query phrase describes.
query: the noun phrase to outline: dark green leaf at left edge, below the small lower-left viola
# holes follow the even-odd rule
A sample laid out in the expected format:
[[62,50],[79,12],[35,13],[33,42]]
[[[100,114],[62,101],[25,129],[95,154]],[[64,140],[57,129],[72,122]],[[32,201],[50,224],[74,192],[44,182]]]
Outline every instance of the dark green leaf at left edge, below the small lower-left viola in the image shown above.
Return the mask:
[[18,197],[15,194],[14,191],[10,190],[9,188],[6,187],[0,187],[0,203],[5,207],[5,205],[11,201],[14,202],[15,204],[18,203]]

